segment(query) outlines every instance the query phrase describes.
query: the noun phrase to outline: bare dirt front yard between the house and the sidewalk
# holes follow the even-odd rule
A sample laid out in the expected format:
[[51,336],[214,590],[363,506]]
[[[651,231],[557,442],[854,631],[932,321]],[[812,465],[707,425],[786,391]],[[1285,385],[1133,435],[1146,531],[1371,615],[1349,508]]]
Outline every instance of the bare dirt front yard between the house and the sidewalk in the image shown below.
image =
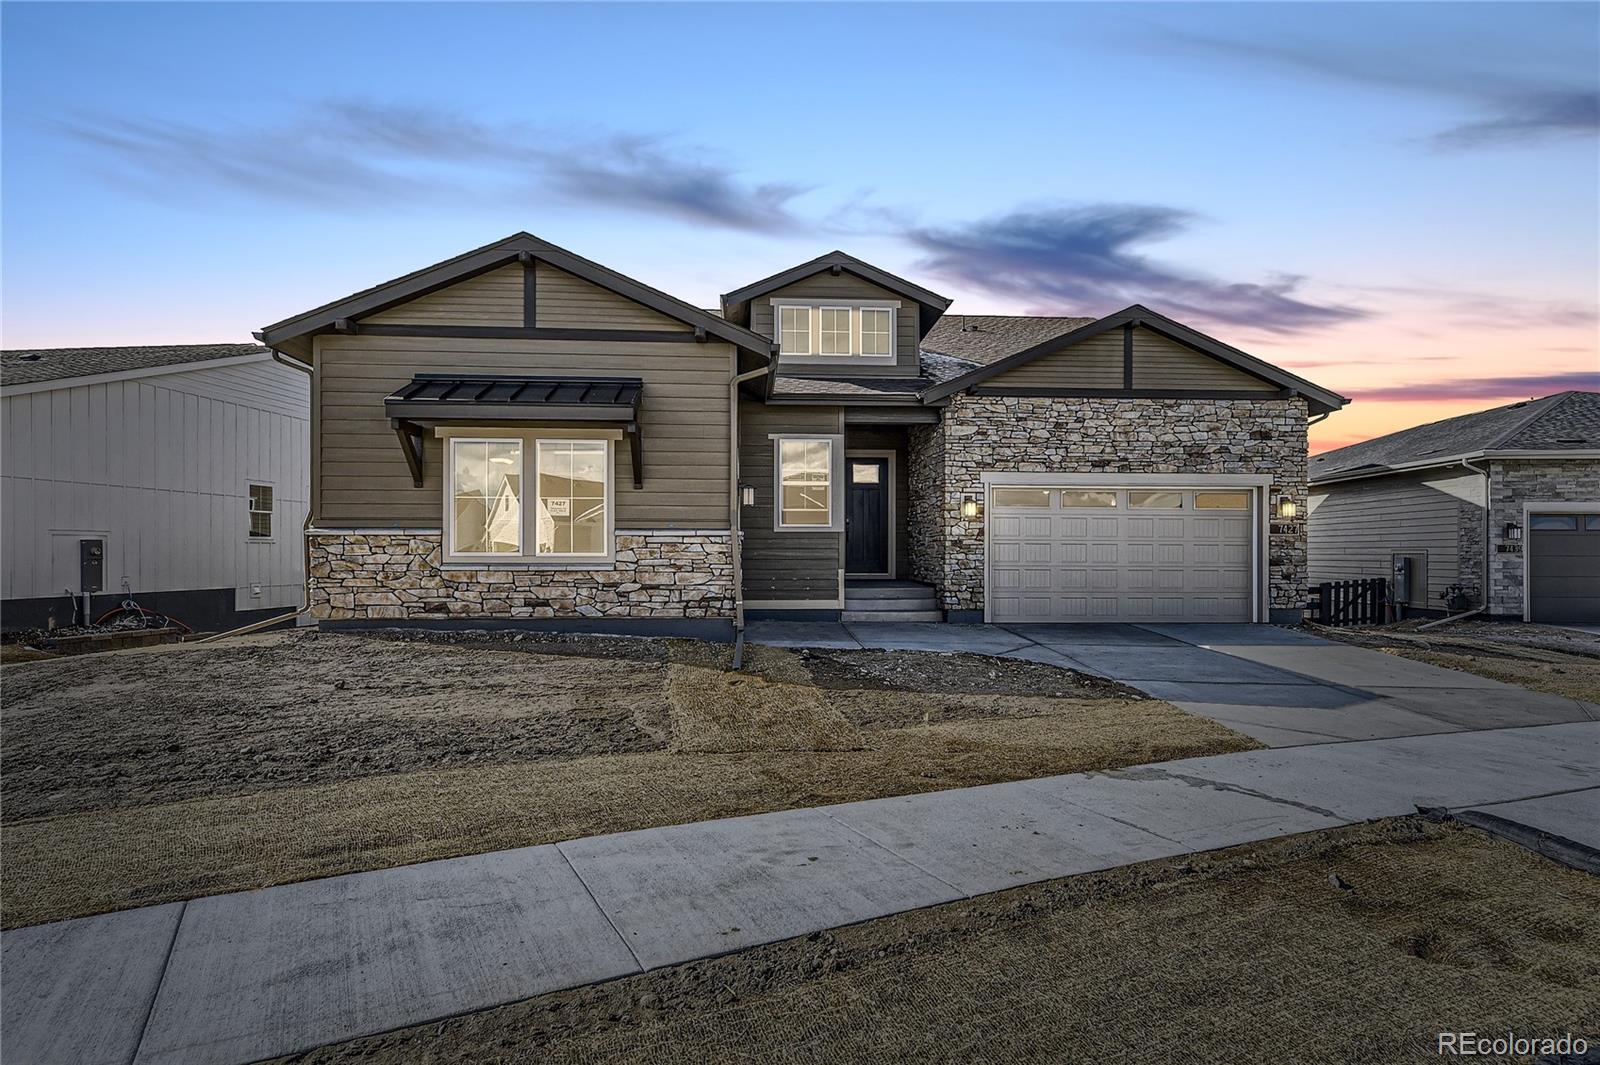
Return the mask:
[[6,665],[3,926],[1254,747],[1034,662],[749,648],[730,675],[728,656],[282,633]]

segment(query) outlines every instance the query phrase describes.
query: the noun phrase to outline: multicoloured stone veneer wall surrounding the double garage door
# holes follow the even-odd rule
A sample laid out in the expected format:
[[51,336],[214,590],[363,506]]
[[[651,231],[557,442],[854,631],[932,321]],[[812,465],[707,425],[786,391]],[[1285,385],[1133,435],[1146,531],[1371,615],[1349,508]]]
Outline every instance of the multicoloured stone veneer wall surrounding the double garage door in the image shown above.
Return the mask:
[[[957,393],[910,438],[914,576],[950,611],[984,606],[984,515],[962,518],[982,473],[1269,473],[1296,517],[1269,525],[1269,604],[1306,604],[1306,401],[984,397]],[[918,529],[918,494],[936,499]],[[926,505],[926,501],[923,501]],[[936,544],[928,540],[936,539]]]

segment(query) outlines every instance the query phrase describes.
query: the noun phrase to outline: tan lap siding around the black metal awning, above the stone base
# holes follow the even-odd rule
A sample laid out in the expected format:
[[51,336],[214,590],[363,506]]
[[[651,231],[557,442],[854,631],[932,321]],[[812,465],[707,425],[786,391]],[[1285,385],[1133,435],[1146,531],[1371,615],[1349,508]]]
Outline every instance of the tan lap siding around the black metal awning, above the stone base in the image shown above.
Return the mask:
[[616,528],[728,528],[730,344],[326,334],[315,337],[315,366],[322,526],[440,528],[442,441],[427,438],[424,483],[414,488],[384,397],[416,374],[482,373],[640,377],[645,478],[634,488],[632,457],[619,441]]

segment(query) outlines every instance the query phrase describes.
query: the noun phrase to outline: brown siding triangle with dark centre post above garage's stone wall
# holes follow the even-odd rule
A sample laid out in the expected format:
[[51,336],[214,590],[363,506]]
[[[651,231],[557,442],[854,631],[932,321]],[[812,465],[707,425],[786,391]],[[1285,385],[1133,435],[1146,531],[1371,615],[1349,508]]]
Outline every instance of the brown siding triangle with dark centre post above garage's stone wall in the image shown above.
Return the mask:
[[[1122,389],[1123,331],[1085,337],[984,381],[986,389]],[[1133,331],[1133,387],[1277,392],[1278,385],[1150,329]]]

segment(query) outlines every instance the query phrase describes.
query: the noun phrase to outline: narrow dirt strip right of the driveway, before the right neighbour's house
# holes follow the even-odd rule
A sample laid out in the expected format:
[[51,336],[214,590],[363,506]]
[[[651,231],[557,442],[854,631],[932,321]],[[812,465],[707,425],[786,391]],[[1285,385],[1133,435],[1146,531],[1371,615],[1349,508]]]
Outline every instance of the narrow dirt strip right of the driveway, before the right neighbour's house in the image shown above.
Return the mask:
[[1600,636],[1554,625],[1475,620],[1422,632],[1422,624],[1309,628],[1328,640],[1600,704]]

